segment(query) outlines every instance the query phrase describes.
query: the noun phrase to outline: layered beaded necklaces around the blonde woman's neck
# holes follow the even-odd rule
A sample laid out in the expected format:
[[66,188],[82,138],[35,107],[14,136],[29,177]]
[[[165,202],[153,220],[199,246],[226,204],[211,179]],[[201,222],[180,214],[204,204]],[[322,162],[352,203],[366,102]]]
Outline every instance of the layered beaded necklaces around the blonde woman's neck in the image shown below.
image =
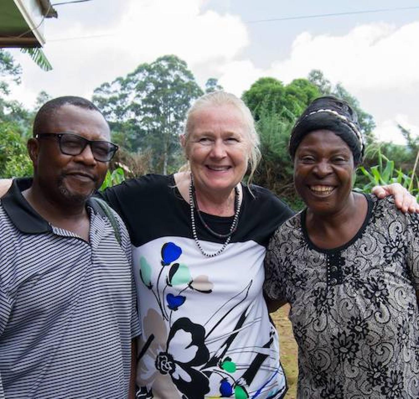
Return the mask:
[[[191,184],[189,185],[189,206],[190,206],[190,209],[191,209],[192,234],[194,236],[194,240],[197,244],[197,247],[199,248],[201,253],[206,257],[215,257],[215,256],[221,254],[221,252],[225,250],[228,243],[230,242],[231,236],[237,230],[238,215],[240,213],[240,207],[241,207],[238,188],[234,187],[234,211],[235,212],[234,212],[233,223],[231,224],[231,227],[230,227],[230,232],[227,233],[227,234],[220,234],[220,233],[217,233],[217,232],[213,231],[207,225],[207,223],[205,223],[205,221],[203,220],[202,215],[201,215],[201,213],[199,211],[199,208],[198,208],[198,202],[197,202],[197,198],[196,198],[196,195],[195,195],[195,187],[194,187],[194,181],[193,181],[192,176],[191,176]],[[197,210],[199,220],[201,221],[202,225],[207,229],[207,231],[209,233],[211,233],[213,236],[215,236],[217,238],[227,238],[226,241],[224,242],[224,244],[222,244],[222,247],[218,251],[209,253],[209,252],[205,252],[204,249],[202,249],[202,246],[201,246],[201,244],[199,243],[199,240],[198,240],[197,228],[196,228],[196,225],[195,225],[194,208]]]

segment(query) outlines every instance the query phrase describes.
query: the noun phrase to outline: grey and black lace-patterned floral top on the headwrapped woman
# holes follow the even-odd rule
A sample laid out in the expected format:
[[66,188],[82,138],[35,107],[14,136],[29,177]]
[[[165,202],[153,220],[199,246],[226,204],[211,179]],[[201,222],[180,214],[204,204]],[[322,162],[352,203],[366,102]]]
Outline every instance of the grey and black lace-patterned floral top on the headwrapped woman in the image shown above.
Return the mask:
[[344,246],[316,247],[305,211],[269,244],[264,290],[291,305],[299,399],[419,398],[419,217],[367,200]]

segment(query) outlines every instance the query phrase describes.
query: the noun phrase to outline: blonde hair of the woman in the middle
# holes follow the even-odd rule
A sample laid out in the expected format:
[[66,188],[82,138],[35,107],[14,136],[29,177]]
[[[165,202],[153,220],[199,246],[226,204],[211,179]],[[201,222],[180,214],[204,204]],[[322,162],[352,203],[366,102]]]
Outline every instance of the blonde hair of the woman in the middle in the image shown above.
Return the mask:
[[[186,124],[184,129],[185,137],[185,147],[189,140],[189,135],[193,128],[192,116],[197,112],[211,106],[224,106],[232,105],[237,108],[243,115],[243,123],[246,126],[246,133],[250,151],[248,154],[248,165],[250,166],[250,174],[248,178],[248,184],[251,183],[253,175],[256,171],[256,167],[261,159],[261,152],[259,150],[259,135],[256,132],[255,121],[251,114],[250,109],[246,104],[231,93],[226,93],[225,91],[214,91],[212,93],[204,94],[204,96],[199,97],[197,101],[189,108],[188,113],[186,114]],[[189,171],[189,163],[184,164],[179,169],[179,172]]]

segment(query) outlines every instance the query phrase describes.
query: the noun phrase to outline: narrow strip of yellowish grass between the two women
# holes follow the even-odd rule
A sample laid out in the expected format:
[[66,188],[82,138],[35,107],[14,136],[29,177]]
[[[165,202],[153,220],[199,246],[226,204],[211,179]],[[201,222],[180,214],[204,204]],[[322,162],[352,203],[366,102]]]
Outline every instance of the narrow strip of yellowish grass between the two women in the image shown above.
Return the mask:
[[295,399],[297,397],[297,343],[292,334],[291,322],[288,320],[290,306],[282,306],[277,312],[271,314],[272,320],[277,326],[279,333],[279,343],[281,350],[281,363],[285,370],[288,382],[288,392],[285,399]]

